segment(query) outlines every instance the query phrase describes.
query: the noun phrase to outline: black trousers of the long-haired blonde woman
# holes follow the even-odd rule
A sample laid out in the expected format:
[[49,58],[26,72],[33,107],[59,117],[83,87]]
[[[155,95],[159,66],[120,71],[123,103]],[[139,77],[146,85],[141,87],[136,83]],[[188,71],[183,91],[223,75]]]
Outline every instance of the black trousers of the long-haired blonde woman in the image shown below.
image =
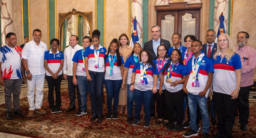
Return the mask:
[[232,138],[232,128],[235,118],[235,103],[237,99],[231,99],[231,95],[213,92],[215,111],[218,115],[217,138]]

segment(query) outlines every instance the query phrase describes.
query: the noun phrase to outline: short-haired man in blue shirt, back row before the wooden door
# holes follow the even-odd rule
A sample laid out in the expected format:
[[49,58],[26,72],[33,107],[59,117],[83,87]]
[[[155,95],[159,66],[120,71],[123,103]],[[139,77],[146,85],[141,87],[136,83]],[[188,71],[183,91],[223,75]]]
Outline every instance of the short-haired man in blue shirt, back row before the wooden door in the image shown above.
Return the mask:
[[171,41],[173,42],[174,46],[168,49],[168,56],[171,57],[171,53],[173,52],[173,49],[179,49],[181,52],[182,61],[184,61],[184,56],[187,48],[181,45],[181,41],[182,41],[181,35],[179,33],[174,33]]

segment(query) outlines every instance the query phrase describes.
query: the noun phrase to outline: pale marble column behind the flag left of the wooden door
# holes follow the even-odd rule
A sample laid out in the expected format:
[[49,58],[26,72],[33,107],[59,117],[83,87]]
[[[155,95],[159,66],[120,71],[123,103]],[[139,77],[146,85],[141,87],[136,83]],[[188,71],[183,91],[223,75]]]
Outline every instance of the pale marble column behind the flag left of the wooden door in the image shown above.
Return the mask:
[[[131,32],[133,32],[133,19],[136,16],[137,20],[137,32],[142,44],[142,25],[143,25],[143,11],[142,11],[143,0],[131,0]],[[130,36],[129,36],[130,37]]]

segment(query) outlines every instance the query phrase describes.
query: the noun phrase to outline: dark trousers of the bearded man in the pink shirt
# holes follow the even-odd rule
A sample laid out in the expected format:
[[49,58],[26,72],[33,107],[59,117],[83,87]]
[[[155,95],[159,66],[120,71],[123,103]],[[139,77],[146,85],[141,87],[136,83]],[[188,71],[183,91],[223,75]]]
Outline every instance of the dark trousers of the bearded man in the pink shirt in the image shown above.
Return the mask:
[[248,124],[250,90],[251,90],[251,86],[240,87],[240,91],[237,97],[237,104],[238,104],[238,110],[239,110],[239,123],[241,125]]

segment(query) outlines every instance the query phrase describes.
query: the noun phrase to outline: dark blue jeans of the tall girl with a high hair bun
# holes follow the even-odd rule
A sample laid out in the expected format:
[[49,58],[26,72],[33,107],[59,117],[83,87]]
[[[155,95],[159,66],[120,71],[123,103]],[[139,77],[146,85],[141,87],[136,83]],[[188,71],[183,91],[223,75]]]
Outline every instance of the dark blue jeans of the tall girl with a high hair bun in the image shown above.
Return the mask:
[[92,78],[89,81],[92,115],[102,115],[104,72],[89,71]]

